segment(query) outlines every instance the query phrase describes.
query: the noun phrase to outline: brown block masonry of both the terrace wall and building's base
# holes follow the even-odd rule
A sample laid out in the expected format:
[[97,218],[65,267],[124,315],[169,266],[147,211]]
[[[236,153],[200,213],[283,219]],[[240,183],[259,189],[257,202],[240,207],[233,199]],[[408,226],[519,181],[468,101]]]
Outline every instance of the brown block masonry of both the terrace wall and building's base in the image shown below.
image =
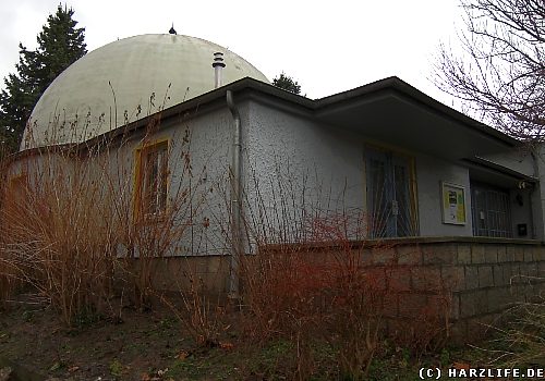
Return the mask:
[[[276,249],[286,250],[286,245]],[[435,323],[448,327],[453,342],[476,342],[486,334],[487,324],[500,322],[513,305],[545,298],[545,246],[536,241],[414,237],[352,242],[351,250],[360,266],[384,274],[383,287],[389,290],[385,294],[384,316],[391,334],[411,333],[408,330],[415,325],[431,323],[426,319],[436,319]],[[287,251],[324,266],[338,260],[346,248],[324,243]],[[161,259],[156,265],[155,284],[179,291],[190,285],[187,274],[193,274],[208,291],[223,293],[229,259]]]

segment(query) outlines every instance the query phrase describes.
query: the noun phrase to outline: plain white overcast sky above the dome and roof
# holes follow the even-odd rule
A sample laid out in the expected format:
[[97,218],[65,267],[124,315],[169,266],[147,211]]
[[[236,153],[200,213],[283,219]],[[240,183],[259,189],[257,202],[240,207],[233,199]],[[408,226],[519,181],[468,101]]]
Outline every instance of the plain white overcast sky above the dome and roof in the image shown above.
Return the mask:
[[[429,78],[439,44],[457,41],[458,0],[66,3],[86,28],[89,51],[118,38],[168,33],[173,23],[178,34],[229,48],[269,79],[286,72],[310,98],[397,75],[451,106]],[[36,36],[58,4],[59,0],[0,2],[0,77],[15,71],[20,41],[36,48]]]

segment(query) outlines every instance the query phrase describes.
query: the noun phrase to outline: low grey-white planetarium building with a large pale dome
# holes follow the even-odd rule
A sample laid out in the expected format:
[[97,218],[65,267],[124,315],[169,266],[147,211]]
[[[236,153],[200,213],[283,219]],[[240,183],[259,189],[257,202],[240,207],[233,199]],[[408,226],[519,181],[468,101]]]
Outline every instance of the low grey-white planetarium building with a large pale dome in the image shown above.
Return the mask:
[[[47,188],[36,175],[47,173],[50,199],[73,196],[61,210],[95,197],[74,214],[97,217],[85,231],[109,237],[120,257],[167,258],[167,286],[190,263],[210,287],[237,292],[241,256],[300,242],[329,247],[316,234],[320,221],[336,221],[354,247],[389,242],[388,253],[413,266],[456,270],[467,280],[460,295],[504,282],[496,267],[543,269],[542,148],[398,77],[354,85],[308,99],[199,38],[113,41],[44,93],[8,163],[8,188]],[[52,216],[43,202],[36,210]],[[516,267],[506,245],[522,253]],[[473,271],[491,284],[471,283]]]

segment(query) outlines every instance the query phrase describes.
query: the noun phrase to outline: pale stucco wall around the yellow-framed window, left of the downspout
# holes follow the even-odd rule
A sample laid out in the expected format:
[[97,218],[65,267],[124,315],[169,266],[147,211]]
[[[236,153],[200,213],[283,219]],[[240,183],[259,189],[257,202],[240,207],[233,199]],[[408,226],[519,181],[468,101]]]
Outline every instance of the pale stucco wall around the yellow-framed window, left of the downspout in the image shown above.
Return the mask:
[[[173,207],[180,205],[182,198],[187,199],[177,214],[178,224],[186,229],[171,250],[173,255],[229,253],[225,232],[229,225],[226,179],[231,158],[231,126],[232,118],[227,108],[216,109],[194,118],[190,113],[189,118],[164,121],[146,139],[146,144],[168,140],[168,205]],[[109,152],[110,171],[119,174],[119,185],[126,187],[131,200],[134,197],[135,152],[143,145],[144,135],[145,131],[141,130],[121,148],[112,147]],[[132,217],[133,205],[130,208]]]

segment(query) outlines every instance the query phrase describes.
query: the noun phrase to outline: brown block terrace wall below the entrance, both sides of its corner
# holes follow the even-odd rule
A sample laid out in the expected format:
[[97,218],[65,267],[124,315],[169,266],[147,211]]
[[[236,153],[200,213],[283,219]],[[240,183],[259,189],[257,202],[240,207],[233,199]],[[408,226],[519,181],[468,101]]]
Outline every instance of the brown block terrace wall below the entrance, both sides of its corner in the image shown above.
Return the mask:
[[395,269],[391,278],[405,284],[397,290],[397,316],[390,317],[397,329],[403,329],[403,320],[443,303],[448,305],[451,339],[474,342],[486,335],[491,324],[500,323],[512,306],[545,300],[545,246],[540,242],[434,237],[388,244],[382,253],[363,249],[362,256],[370,266],[389,261]]

